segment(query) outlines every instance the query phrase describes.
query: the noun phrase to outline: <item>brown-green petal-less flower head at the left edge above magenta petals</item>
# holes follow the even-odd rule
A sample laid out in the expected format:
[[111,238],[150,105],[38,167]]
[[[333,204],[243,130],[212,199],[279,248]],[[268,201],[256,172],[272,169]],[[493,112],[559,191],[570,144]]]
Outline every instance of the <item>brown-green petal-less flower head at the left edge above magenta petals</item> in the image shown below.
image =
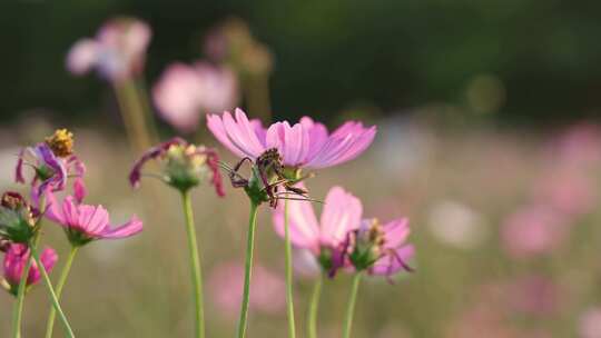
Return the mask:
[[28,243],[36,233],[38,216],[21,195],[4,192],[0,202],[0,240]]

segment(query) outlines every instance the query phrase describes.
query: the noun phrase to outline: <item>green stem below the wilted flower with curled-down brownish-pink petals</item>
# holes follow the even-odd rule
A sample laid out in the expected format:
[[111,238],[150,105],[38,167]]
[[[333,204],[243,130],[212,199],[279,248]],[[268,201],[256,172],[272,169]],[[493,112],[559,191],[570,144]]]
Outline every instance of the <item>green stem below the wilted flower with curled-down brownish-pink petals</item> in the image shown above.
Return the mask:
[[190,271],[194,285],[194,306],[195,306],[195,337],[205,337],[205,314],[204,314],[204,297],[203,297],[203,274],[200,270],[200,254],[198,252],[198,243],[196,242],[196,229],[194,226],[194,215],[191,208],[190,192],[181,193],[184,205],[184,215],[186,216],[186,230],[188,233],[188,247],[190,254]]

